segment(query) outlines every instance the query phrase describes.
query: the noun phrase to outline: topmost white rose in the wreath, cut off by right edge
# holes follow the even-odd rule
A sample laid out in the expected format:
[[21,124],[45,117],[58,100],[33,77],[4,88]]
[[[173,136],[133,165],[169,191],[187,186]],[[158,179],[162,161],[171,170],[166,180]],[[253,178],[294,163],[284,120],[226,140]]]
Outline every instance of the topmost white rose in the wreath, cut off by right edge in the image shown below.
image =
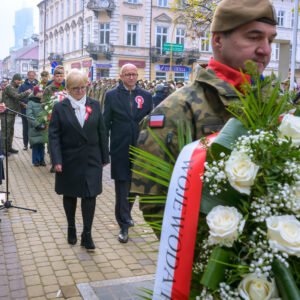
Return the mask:
[[289,137],[295,146],[300,145],[300,117],[287,114],[283,117],[278,127],[279,138]]

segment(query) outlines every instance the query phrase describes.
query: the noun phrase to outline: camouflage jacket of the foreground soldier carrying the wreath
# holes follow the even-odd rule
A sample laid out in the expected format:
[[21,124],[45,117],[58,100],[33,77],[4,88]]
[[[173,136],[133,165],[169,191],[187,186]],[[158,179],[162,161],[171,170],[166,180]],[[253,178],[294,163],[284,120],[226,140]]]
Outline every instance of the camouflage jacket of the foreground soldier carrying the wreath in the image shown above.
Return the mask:
[[[163,127],[151,129],[177,157],[179,154],[177,121],[185,121],[190,126],[193,140],[200,139],[223,127],[230,118],[226,106],[231,101],[239,101],[234,89],[227,82],[216,77],[212,70],[200,68],[192,84],[171,94],[143,120],[138,147],[167,160],[163,150],[147,130],[151,116],[163,115]],[[136,166],[134,168],[138,169]],[[141,195],[163,195],[167,191],[133,173],[131,192]]]

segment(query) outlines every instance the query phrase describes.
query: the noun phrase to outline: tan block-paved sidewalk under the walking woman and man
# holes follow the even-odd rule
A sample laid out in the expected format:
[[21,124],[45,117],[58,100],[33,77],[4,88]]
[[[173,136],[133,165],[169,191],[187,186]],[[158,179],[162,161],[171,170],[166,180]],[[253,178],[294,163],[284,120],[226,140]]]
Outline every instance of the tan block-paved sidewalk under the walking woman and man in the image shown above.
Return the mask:
[[[143,285],[151,288],[156,238],[149,227],[141,226],[142,214],[135,203],[136,226],[130,228],[127,244],[118,242],[109,166],[104,168],[103,193],[97,198],[93,225],[97,248],[87,252],[78,244],[70,246],[66,242],[62,199],[54,192],[54,174],[49,172],[49,158],[46,156],[46,167],[32,166],[31,150],[22,150],[21,129],[21,119],[17,117],[14,147],[19,153],[8,158],[9,200],[37,212],[14,207],[0,210],[0,300],[125,300],[136,299],[135,290]],[[0,190],[5,191],[5,183]],[[79,235],[80,201],[76,222]],[[124,292],[120,294],[119,290]]]

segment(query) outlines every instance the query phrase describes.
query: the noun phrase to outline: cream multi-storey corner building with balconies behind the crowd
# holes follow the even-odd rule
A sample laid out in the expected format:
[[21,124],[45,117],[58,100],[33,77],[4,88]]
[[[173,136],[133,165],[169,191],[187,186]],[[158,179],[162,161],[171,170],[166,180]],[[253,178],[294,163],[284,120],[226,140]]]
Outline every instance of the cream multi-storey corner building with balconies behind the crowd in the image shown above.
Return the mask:
[[[278,37],[266,73],[288,75],[293,1],[274,0]],[[134,63],[141,79],[193,79],[195,64],[212,56],[209,32],[189,38],[170,0],[44,0],[38,4],[39,69],[63,64],[83,69],[91,80],[117,78]],[[284,54],[284,55],[283,55]],[[287,61],[288,60],[288,61]],[[296,69],[300,53],[297,47]],[[279,61],[284,61],[281,68]],[[278,71],[279,70],[279,71]]]

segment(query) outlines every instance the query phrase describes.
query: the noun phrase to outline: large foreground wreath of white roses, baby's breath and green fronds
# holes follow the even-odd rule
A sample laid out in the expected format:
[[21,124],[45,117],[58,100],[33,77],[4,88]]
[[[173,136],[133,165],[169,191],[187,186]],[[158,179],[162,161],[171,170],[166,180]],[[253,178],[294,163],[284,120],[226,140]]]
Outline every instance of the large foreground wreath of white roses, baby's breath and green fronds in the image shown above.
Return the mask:
[[[156,279],[172,263],[174,274],[168,273],[165,286],[156,280],[154,291],[148,291],[153,299],[162,293],[170,299],[300,299],[300,113],[291,95],[280,94],[274,76],[262,79],[254,63],[246,66],[253,82],[244,84],[243,93],[236,90],[241,101],[228,108],[234,118],[211,145],[209,137],[200,141],[206,161],[198,174],[203,187],[195,247],[189,249],[193,264],[183,279],[189,288],[174,288],[184,247],[178,238],[177,248],[171,245],[173,260],[158,258]],[[191,141],[184,128],[178,125],[178,140],[185,141],[181,148]],[[165,170],[167,165],[176,170],[174,157],[149,132],[171,162],[131,147],[133,172],[168,187],[171,175]],[[140,199],[168,204],[162,195]],[[150,225],[164,232],[160,222]]]

